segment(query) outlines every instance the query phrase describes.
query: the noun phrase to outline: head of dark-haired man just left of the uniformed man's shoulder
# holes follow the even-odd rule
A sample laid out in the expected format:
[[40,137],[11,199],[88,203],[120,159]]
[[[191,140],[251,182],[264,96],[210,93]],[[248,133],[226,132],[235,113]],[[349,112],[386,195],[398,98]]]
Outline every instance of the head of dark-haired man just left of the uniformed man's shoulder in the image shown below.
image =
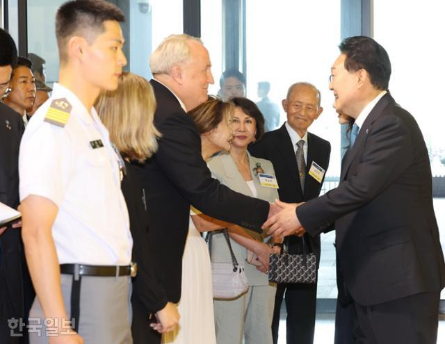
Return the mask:
[[4,99],[6,105],[22,116],[25,125],[28,124],[26,110],[32,108],[35,99],[35,79],[31,66],[31,60],[28,58],[17,59],[9,83],[11,92]]

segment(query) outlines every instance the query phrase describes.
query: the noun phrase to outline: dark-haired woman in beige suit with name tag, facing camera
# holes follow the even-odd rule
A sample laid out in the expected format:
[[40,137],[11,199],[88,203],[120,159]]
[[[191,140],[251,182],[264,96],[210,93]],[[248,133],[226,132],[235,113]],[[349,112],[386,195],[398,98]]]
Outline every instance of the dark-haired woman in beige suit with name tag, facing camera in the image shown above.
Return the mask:
[[[232,190],[251,197],[274,202],[278,198],[277,181],[270,161],[255,158],[248,145],[264,134],[264,117],[249,99],[233,98],[232,149],[208,162],[213,176]],[[245,266],[249,289],[230,300],[215,300],[216,341],[218,344],[270,344],[275,285],[269,284],[269,254],[274,249],[264,242],[266,234],[248,229],[230,228],[232,248],[238,262]],[[223,234],[214,234],[211,260],[231,262]]]

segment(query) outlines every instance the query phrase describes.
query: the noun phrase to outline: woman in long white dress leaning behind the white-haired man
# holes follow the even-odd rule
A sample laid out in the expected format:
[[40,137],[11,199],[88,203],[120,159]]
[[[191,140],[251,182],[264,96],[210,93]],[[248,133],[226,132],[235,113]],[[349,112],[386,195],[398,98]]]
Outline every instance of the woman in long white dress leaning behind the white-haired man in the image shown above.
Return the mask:
[[[204,160],[218,151],[230,149],[232,131],[229,120],[233,113],[234,106],[220,99],[209,99],[188,113],[201,133]],[[181,319],[175,331],[163,334],[162,343],[165,344],[216,344],[209,249],[197,231],[200,227],[197,214],[195,209],[191,211],[182,257],[181,300],[178,304]]]

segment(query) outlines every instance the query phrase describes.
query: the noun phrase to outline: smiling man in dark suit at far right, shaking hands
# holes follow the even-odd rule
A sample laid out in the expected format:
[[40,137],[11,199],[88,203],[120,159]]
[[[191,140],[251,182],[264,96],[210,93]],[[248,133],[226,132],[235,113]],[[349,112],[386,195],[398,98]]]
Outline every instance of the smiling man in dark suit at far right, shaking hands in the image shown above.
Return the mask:
[[428,151],[414,117],[387,92],[385,49],[358,36],[340,51],[330,89],[334,107],[355,125],[339,187],[298,208],[283,205],[265,225],[274,223],[275,234],[317,235],[334,223],[357,343],[436,343],[445,263]]

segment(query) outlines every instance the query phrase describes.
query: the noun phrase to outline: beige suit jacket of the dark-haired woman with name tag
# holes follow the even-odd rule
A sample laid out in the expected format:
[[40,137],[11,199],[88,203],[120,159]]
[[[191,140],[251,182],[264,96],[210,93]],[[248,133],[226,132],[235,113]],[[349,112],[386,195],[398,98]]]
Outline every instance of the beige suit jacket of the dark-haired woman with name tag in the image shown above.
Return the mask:
[[[255,158],[249,154],[249,164],[250,170],[252,171],[257,163],[261,165],[266,174],[275,175],[275,171],[273,170],[273,165],[270,161],[265,159]],[[220,154],[211,158],[208,163],[209,169],[213,177],[218,179],[221,183],[228,186],[232,190],[238,191],[243,195],[248,195],[253,197],[252,190],[250,190],[248,184],[245,182],[243,176],[238,171],[235,162],[232,159],[232,156],[227,153]],[[254,186],[257,189],[257,198],[264,199],[268,202],[274,202],[275,198],[278,197],[277,189],[275,188],[267,188],[265,186],[261,186],[258,176],[252,172],[252,180],[254,182]],[[257,232],[250,231],[246,229],[246,232],[252,236],[255,240],[263,241],[266,238],[266,231],[263,231],[262,234]],[[234,240],[230,240],[232,249],[236,256],[236,260],[240,265],[244,265],[245,275],[248,278],[250,286],[267,286],[269,284],[268,275],[263,272],[257,270],[257,268],[247,263],[245,260],[247,259],[247,249]],[[211,250],[211,261],[216,262],[228,262],[231,263],[232,259],[230,257],[229,247],[225,241],[223,234],[214,234],[212,239],[212,250]]]

